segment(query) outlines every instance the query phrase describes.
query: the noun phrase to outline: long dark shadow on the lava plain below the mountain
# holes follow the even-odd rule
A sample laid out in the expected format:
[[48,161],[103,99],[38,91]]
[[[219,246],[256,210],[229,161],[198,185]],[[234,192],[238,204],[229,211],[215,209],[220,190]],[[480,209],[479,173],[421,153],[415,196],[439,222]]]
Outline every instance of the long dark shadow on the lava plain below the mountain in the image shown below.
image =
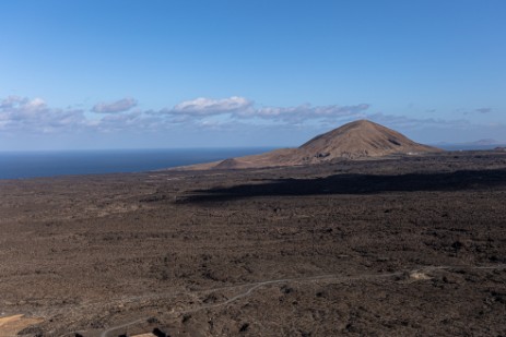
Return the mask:
[[186,202],[212,202],[254,196],[374,194],[381,192],[460,191],[506,186],[506,169],[461,170],[398,176],[336,174],[317,179],[279,179],[267,183],[196,190]]

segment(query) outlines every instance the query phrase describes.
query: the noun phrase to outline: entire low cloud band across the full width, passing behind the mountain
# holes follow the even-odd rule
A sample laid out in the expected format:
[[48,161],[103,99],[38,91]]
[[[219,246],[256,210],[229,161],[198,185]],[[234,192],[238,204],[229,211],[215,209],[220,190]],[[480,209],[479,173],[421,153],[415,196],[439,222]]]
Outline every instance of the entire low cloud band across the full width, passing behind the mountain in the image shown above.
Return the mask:
[[[136,109],[133,109],[137,107]],[[91,108],[55,108],[42,98],[9,96],[0,99],[0,136],[11,140],[34,134],[81,134],[92,139],[94,134],[121,134],[125,137],[160,136],[167,139],[173,132],[187,130],[209,132],[216,136],[235,134],[242,136],[247,130],[293,134],[294,131],[323,132],[356,119],[369,119],[401,132],[419,132],[424,135],[446,136],[448,131],[478,134],[489,131],[506,133],[504,124],[476,124],[466,119],[445,120],[412,116],[388,115],[370,111],[367,103],[356,105],[313,106],[302,104],[292,107],[259,106],[240,96],[228,98],[196,98],[162,109],[141,109],[133,98],[122,98],[111,103],[97,103]],[[492,109],[473,109],[487,113]],[[242,130],[242,131],[239,131]],[[308,131],[309,130],[309,131]],[[221,133],[221,134],[220,134]],[[483,137],[480,135],[480,137]],[[439,139],[434,141],[439,141]],[[444,140],[444,137],[443,137]]]

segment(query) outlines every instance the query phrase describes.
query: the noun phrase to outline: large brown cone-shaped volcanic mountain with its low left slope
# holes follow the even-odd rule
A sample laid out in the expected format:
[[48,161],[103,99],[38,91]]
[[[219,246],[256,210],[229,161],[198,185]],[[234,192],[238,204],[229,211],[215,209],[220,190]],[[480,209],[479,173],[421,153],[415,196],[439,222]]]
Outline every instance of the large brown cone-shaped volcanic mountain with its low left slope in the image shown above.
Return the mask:
[[298,148],[187,166],[178,169],[239,169],[318,164],[337,159],[366,159],[389,155],[416,155],[442,149],[419,144],[380,124],[358,120],[320,134]]

